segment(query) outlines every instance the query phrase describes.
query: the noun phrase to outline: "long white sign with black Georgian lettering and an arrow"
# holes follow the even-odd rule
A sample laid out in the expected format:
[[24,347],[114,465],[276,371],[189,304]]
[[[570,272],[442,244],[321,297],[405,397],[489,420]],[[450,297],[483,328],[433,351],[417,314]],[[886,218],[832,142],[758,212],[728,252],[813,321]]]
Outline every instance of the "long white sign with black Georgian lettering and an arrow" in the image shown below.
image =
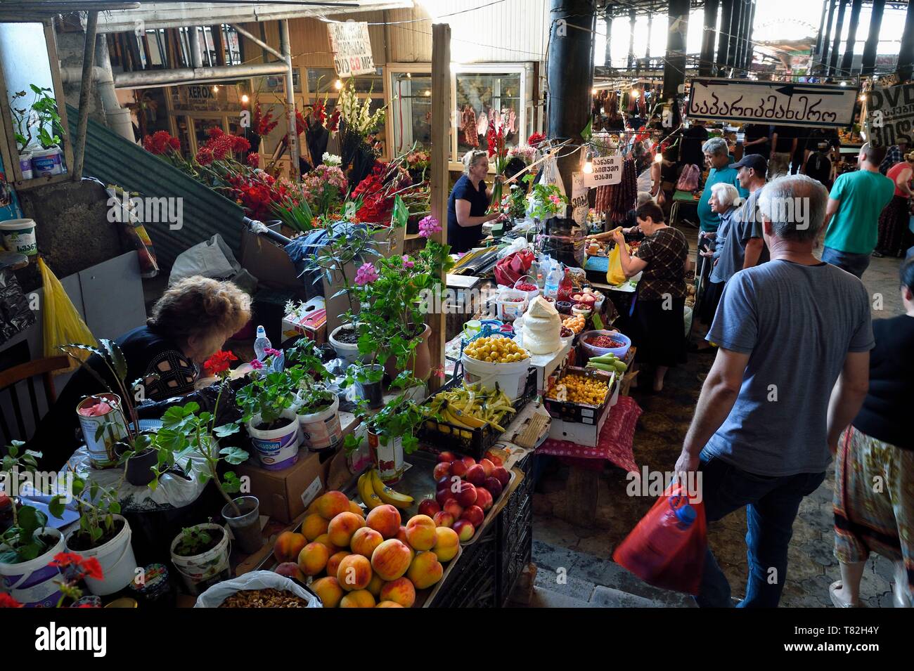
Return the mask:
[[691,119],[829,128],[849,126],[859,89],[749,79],[691,79]]

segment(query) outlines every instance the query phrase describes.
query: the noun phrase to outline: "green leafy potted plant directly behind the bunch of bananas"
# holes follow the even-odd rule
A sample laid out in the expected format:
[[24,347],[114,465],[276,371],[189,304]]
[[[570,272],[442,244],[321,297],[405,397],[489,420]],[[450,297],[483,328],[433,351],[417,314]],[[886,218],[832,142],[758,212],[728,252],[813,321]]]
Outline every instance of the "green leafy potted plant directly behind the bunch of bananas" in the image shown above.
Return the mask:
[[[358,413],[359,419],[367,425],[368,447],[378,475],[388,485],[398,482],[403,476],[403,455],[415,452],[419,446],[415,431],[428,410],[417,403],[409,391],[409,382],[418,381],[414,378],[410,381],[405,374],[400,379],[406,379],[405,391],[376,414],[366,414],[363,410]],[[364,436],[346,435],[346,451],[352,453],[358,449],[363,439]]]

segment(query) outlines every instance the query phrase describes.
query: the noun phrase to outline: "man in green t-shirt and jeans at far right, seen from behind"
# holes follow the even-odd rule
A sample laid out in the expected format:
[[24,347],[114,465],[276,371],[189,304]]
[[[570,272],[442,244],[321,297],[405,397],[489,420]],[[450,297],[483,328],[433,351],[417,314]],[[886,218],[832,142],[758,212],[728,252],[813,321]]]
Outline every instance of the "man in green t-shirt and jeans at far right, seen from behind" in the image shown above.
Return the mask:
[[866,142],[857,154],[860,170],[838,175],[825,211],[822,260],[862,278],[879,235],[879,214],[895,184],[879,173],[885,147]]

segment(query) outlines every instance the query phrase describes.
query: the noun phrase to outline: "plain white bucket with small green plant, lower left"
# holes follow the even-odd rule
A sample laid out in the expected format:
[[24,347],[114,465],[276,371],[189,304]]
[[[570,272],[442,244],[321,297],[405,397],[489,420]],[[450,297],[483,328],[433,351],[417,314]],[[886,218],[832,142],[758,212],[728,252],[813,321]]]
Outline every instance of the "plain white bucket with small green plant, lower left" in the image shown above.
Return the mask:
[[[80,513],[80,523],[64,543],[69,552],[95,559],[103,578],[86,578],[90,592],[105,596],[120,592],[133,581],[136,559],[131,546],[130,524],[121,515],[121,504],[112,489],[101,487],[72,472],[72,502]],[[69,494],[51,499],[48,509],[55,517],[63,515]]]

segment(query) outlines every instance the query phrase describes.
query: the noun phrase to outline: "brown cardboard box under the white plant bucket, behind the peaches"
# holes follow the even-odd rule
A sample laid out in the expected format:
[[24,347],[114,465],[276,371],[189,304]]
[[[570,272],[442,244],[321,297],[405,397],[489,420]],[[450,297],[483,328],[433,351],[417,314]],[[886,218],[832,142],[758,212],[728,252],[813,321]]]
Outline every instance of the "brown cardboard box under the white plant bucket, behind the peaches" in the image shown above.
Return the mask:
[[291,467],[271,471],[252,458],[235,467],[235,472],[239,477],[250,477],[250,493],[260,499],[261,515],[288,523],[324,492],[334,455],[302,449]]

